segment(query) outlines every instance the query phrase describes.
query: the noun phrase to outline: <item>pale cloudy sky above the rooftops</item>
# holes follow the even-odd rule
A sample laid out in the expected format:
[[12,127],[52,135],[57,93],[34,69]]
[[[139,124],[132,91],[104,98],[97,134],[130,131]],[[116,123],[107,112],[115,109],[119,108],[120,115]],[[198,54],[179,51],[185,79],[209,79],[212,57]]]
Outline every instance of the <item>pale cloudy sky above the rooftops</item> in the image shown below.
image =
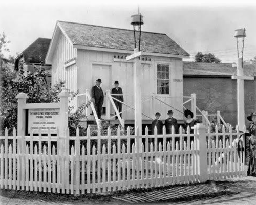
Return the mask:
[[237,59],[236,29],[246,29],[244,59],[256,56],[253,2],[0,0],[0,33],[11,41],[10,54],[16,56],[38,37],[52,38],[57,20],[132,29],[131,15],[137,13],[139,5],[144,16],[142,31],[167,34],[191,55],[186,60],[194,60],[201,51],[232,63]]

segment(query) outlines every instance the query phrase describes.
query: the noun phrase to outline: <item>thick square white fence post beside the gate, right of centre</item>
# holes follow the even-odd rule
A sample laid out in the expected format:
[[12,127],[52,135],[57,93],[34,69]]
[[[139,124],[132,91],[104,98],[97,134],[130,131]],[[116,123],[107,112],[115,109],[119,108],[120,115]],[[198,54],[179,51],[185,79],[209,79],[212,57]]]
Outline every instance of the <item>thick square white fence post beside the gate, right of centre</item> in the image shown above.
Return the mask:
[[198,149],[198,171],[199,171],[199,181],[204,182],[208,179],[208,169],[207,169],[207,144],[206,144],[206,127],[205,125],[198,123],[196,143]]

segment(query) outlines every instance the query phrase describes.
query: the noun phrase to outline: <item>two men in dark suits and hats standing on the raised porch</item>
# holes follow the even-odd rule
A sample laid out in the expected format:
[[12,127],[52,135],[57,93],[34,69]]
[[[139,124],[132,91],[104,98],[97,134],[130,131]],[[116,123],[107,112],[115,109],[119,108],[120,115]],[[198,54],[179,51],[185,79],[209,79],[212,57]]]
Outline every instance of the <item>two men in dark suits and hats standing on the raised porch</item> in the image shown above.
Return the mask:
[[[101,118],[101,111],[102,111],[102,105],[104,101],[104,94],[103,90],[100,87],[100,84],[102,83],[101,79],[96,80],[96,85],[92,87],[92,100],[94,103],[94,107],[98,116],[98,119],[102,120]],[[122,103],[123,102],[123,91],[122,88],[119,87],[119,82],[116,80],[114,82],[114,88],[111,90],[112,97],[114,98],[114,103],[116,105],[117,110],[122,112]],[[116,95],[113,95],[116,94]],[[117,100],[116,100],[117,99]],[[120,114],[120,117],[122,117],[122,114]],[[116,116],[117,119],[117,116]]]

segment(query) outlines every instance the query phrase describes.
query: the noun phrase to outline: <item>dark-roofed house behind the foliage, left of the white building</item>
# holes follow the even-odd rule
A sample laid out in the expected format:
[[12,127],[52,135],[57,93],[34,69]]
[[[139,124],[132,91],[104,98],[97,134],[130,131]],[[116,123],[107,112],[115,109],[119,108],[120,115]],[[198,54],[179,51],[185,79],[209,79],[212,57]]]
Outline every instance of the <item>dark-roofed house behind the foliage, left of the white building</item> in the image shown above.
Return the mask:
[[37,38],[28,48],[16,57],[15,70],[20,72],[20,68],[23,66],[24,74],[27,76],[28,73],[35,72],[35,66],[42,66],[48,74],[47,83],[51,85],[51,64],[45,63],[50,42],[51,39],[49,38]]

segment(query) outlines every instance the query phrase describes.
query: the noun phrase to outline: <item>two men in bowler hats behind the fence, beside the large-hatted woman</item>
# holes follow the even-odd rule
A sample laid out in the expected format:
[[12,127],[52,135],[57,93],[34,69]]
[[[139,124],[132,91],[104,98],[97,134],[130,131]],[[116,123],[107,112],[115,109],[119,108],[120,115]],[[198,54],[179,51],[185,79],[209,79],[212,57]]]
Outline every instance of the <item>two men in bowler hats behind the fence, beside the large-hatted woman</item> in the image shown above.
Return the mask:
[[174,132],[175,134],[178,134],[178,123],[177,119],[173,118],[173,110],[168,111],[168,118],[165,119],[164,124],[161,120],[159,120],[161,114],[159,112],[155,113],[156,119],[153,120],[151,124],[151,133],[155,134],[155,127],[157,127],[157,134],[163,133],[163,126],[166,128],[166,134],[171,134],[172,132],[172,126],[174,126]]

